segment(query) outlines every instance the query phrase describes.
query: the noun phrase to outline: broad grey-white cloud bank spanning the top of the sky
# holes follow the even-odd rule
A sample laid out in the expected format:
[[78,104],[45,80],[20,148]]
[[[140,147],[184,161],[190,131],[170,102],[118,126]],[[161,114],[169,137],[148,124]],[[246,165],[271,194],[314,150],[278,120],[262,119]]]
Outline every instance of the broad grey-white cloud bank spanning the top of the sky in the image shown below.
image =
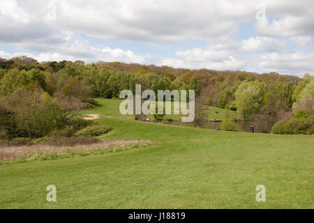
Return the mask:
[[[177,43],[191,38],[215,38],[234,33],[239,24],[254,21],[260,1],[190,0],[1,0],[0,40],[51,36],[80,31],[105,40]],[[272,22],[256,22],[267,36],[301,36],[314,32],[312,0],[264,0]],[[48,7],[55,5],[54,7]],[[55,8],[55,13],[52,10]],[[50,20],[50,15],[56,20]]]

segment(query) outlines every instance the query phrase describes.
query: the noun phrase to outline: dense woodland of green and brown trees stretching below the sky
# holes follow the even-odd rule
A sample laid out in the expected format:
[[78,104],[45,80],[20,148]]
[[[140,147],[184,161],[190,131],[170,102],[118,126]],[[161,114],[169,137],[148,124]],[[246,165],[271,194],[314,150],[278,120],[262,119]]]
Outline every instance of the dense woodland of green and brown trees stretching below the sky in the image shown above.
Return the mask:
[[[314,77],[275,72],[188,70],[126,63],[82,61],[38,63],[26,56],[0,59],[0,139],[40,138],[72,128],[93,98],[119,98],[124,89],[193,89],[195,125],[207,106],[234,110],[258,132],[313,134]],[[157,93],[157,92],[156,92]],[[232,123],[226,113],[225,120]],[[226,122],[225,121],[225,122]],[[231,125],[224,123],[224,125]],[[232,130],[225,128],[225,130]]]

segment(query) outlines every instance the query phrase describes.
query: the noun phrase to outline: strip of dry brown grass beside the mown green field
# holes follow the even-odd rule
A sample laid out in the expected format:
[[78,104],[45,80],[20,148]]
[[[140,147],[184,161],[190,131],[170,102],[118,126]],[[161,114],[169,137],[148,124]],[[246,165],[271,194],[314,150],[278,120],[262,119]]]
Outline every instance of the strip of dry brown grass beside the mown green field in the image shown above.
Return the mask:
[[96,144],[82,146],[47,146],[36,144],[33,146],[0,146],[0,160],[36,160],[38,158],[51,159],[62,156],[89,155],[109,151],[122,151],[151,144],[149,140],[128,141],[100,141]]

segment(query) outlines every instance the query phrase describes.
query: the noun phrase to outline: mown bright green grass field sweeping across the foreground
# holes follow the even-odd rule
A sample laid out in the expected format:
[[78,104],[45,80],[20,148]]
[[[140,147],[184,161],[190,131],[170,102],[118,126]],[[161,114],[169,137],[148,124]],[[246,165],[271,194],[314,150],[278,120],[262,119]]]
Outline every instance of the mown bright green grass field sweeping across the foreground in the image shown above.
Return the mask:
[[[113,130],[107,140],[147,148],[0,165],[0,208],[314,208],[314,137],[251,134],[133,121],[119,100],[84,114]],[[57,186],[57,202],[45,188]],[[255,187],[266,187],[266,202]]]

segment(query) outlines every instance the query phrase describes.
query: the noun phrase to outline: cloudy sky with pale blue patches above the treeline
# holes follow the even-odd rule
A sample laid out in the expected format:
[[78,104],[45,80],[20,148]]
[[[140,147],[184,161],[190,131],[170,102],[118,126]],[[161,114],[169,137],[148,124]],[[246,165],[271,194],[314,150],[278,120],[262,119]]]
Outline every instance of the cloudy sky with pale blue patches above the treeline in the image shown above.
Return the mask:
[[314,75],[313,0],[1,0],[0,57]]

